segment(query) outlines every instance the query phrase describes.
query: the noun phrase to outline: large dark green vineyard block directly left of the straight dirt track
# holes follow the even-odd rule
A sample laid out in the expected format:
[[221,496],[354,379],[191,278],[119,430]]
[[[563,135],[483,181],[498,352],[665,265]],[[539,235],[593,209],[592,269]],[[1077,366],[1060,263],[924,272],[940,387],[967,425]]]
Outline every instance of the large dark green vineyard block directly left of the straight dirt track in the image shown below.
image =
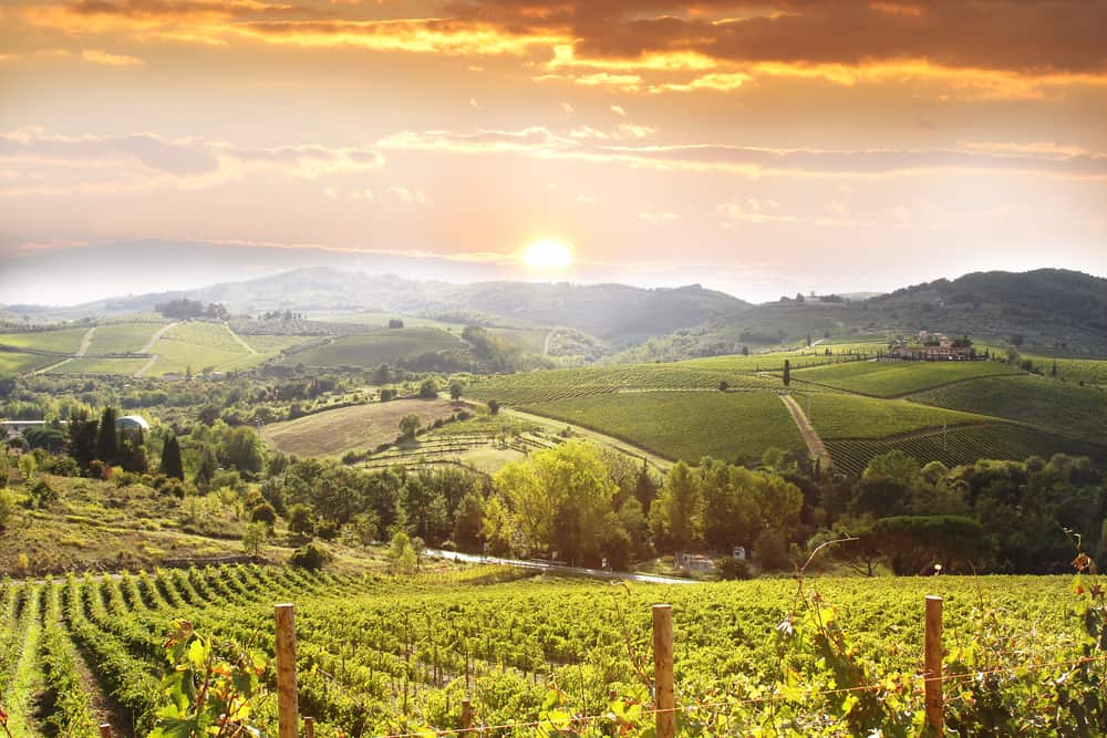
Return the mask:
[[642,392],[520,407],[592,428],[670,459],[761,459],[765,449],[806,450],[787,408],[769,392]]

